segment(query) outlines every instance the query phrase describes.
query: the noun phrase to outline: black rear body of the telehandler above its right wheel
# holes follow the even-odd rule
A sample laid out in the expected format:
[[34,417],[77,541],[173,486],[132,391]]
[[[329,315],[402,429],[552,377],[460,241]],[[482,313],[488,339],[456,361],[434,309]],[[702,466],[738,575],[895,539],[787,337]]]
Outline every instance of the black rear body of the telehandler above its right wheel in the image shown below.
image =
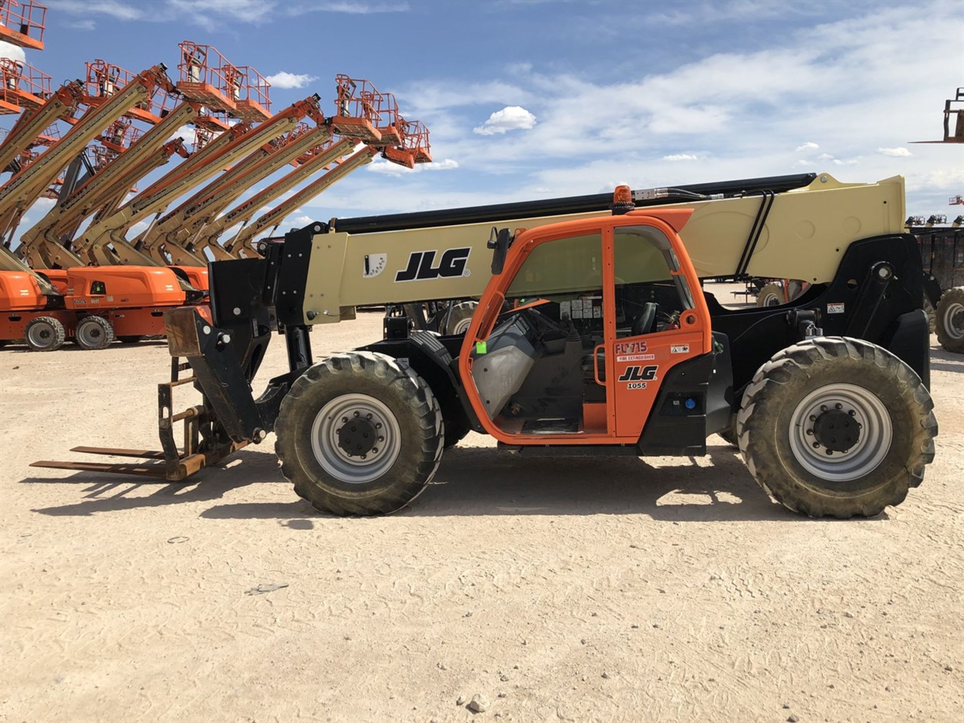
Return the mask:
[[[801,340],[798,311],[816,311],[827,336],[853,336],[888,349],[929,382],[924,274],[917,239],[874,236],[850,244],[833,281],[815,284],[780,307],[728,309],[707,295],[713,331],[730,339],[734,388],[744,388],[763,362]],[[922,324],[922,319],[923,324]]]

